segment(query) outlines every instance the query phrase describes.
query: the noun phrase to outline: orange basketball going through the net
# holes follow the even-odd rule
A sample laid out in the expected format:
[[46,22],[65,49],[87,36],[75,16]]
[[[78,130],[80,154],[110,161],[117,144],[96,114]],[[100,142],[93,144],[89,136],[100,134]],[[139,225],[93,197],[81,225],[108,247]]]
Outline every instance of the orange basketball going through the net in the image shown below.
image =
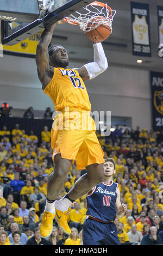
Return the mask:
[[[96,27],[98,25],[98,21],[105,20],[105,17],[98,16],[92,18],[92,20],[87,24],[87,28]],[[92,24],[92,22],[94,22]],[[92,29],[89,32],[86,32],[87,36],[94,42],[102,42],[106,40],[111,33],[111,28],[108,25],[101,24],[97,28]]]

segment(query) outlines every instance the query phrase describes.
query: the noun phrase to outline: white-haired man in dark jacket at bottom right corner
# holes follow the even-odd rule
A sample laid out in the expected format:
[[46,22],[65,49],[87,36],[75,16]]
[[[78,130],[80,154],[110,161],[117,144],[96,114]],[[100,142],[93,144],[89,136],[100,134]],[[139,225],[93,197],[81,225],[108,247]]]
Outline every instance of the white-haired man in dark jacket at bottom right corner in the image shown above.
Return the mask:
[[149,234],[143,236],[141,240],[141,245],[161,245],[161,238],[156,234],[156,227],[151,227],[149,229]]

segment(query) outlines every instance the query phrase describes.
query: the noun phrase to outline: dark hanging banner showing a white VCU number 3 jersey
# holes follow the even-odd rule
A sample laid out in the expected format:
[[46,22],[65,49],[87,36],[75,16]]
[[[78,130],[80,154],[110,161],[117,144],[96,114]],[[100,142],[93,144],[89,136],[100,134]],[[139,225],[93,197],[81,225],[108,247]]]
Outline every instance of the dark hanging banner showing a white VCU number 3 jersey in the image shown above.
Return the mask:
[[151,57],[149,4],[131,2],[133,55]]

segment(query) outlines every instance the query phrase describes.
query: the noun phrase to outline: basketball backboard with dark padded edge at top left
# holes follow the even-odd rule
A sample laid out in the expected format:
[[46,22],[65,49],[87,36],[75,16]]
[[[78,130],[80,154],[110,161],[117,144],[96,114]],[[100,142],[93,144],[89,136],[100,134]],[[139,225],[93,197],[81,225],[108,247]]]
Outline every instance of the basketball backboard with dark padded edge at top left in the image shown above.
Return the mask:
[[[0,0],[1,1],[1,0]],[[15,0],[19,1],[19,0]],[[42,29],[83,8],[92,0],[37,0],[40,16],[33,22],[1,21],[1,44],[16,45]],[[11,15],[10,15],[11,16]]]

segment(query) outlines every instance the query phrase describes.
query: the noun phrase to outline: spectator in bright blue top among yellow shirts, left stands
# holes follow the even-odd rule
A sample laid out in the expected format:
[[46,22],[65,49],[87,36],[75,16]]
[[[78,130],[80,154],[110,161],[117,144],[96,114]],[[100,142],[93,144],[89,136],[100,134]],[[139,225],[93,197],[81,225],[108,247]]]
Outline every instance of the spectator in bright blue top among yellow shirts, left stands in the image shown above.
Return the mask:
[[10,186],[12,188],[12,193],[14,196],[14,202],[16,202],[17,204],[20,204],[20,192],[23,186],[25,186],[26,184],[24,183],[24,181],[20,180],[20,174],[19,173],[15,173],[14,175],[14,180],[10,181]]

